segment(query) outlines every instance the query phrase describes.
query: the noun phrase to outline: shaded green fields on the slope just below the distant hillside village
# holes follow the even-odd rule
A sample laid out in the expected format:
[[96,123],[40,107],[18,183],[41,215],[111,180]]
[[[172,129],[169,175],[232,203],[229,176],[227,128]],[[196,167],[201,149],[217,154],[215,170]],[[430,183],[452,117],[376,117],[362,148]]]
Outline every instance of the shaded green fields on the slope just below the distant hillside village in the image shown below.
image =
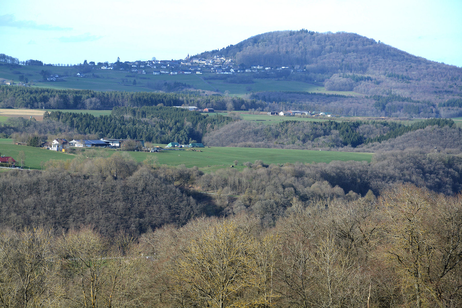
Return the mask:
[[[42,81],[42,70],[48,70],[50,73],[64,75],[69,77],[62,78],[61,81]],[[156,81],[176,81],[191,85],[198,90],[229,92],[231,96],[243,96],[251,91],[309,91],[330,94],[344,94],[353,96],[362,96],[356,92],[342,91],[325,91],[324,87],[291,80],[275,79],[255,79],[253,84],[229,84],[225,80],[210,79],[205,80],[203,77],[215,75],[212,73],[197,74],[179,74],[179,75],[153,75],[152,69],[147,68],[146,74],[132,74],[126,71],[112,71],[92,69],[91,72],[85,73],[85,78],[77,77],[79,69],[72,66],[19,66],[12,68],[9,65],[0,65],[0,78],[14,80],[18,82],[19,75],[24,75],[32,84],[38,87],[48,87],[55,89],[80,89],[94,91],[158,91],[148,85],[149,82]],[[136,85],[133,85],[133,79]]]

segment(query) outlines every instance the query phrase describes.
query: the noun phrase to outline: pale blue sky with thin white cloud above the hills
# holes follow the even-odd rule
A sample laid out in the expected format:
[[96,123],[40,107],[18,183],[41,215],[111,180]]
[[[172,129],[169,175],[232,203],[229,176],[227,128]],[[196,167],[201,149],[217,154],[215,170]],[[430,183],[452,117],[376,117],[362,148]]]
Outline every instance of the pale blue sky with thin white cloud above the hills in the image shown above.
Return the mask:
[[462,0],[0,0],[0,53],[46,63],[182,59],[302,28],[462,66]]

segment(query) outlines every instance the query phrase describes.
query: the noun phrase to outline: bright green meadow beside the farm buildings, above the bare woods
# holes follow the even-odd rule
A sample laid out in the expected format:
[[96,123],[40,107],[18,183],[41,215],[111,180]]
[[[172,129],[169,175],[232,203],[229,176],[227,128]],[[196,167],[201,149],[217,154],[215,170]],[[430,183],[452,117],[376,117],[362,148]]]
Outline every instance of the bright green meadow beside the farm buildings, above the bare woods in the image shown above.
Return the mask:
[[[259,148],[233,148],[233,147],[212,147],[197,148],[200,151],[170,150],[159,153],[127,152],[137,162],[142,162],[148,156],[157,157],[159,164],[178,166],[184,164],[191,168],[197,166],[204,171],[211,171],[217,168],[228,167],[237,160],[238,167],[243,168],[245,162],[254,163],[255,160],[262,160],[266,164],[283,163],[329,163],[333,160],[340,161],[371,161],[372,153],[350,153],[336,151],[308,151],[308,150],[285,150],[285,149],[259,149]],[[98,149],[99,151],[114,150]],[[41,148],[32,148],[24,145],[13,145],[12,139],[0,139],[0,152],[2,155],[11,156],[18,160],[19,151],[25,153],[25,165],[30,169],[41,169],[41,162],[50,159],[73,159],[75,155],[60,153]],[[85,155],[85,152],[83,153]]]

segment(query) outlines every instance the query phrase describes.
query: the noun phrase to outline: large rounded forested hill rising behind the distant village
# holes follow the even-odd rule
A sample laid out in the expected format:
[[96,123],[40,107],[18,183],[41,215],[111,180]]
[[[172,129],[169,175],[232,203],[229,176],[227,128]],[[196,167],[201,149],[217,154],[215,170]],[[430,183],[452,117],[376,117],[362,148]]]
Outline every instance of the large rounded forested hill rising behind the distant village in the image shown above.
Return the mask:
[[[442,103],[462,95],[462,68],[408,54],[355,33],[275,31],[199,54],[223,55],[243,66],[305,69],[299,78],[325,81],[327,90],[394,94]],[[391,90],[390,90],[391,89]]]

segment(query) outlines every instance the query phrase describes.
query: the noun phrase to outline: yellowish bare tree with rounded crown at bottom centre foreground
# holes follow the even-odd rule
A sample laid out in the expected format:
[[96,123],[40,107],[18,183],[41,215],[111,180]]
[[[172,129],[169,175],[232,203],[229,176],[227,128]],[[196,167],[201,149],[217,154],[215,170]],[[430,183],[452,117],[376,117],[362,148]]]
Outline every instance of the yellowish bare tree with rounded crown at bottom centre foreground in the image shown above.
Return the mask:
[[254,238],[233,221],[210,223],[176,262],[172,275],[188,285],[196,304],[225,308],[269,303],[259,292]]

